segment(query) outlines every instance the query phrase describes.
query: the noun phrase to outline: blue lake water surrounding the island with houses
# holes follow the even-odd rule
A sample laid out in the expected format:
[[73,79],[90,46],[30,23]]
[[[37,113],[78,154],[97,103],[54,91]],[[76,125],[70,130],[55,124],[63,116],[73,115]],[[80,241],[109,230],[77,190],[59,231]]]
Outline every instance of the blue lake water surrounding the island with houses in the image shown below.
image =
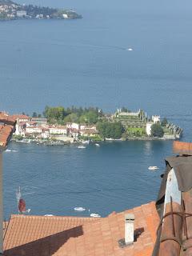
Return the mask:
[[[0,22],[0,109],[142,108],[182,126],[183,140],[191,141],[191,2],[65,5],[83,18]],[[18,186],[32,214],[74,214],[74,206],[85,206],[106,215],[148,202],[156,198],[171,143],[114,142],[86,150],[11,144],[17,152],[4,154],[6,216],[16,211]],[[153,165],[161,170],[151,173]]]

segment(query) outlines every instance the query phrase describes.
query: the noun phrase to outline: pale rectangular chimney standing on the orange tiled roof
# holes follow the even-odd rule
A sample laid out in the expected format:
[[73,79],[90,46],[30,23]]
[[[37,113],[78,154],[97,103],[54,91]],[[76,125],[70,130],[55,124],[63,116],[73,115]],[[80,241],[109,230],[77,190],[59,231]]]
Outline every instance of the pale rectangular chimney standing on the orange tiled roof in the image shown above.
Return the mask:
[[125,215],[125,242],[126,246],[134,242],[134,214]]

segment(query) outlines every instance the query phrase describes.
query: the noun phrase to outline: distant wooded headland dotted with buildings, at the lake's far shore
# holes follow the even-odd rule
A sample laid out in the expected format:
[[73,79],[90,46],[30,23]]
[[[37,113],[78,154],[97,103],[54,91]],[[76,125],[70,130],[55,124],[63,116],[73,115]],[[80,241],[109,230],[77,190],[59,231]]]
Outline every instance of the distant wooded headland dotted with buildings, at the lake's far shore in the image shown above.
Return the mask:
[[82,18],[74,10],[55,9],[34,5],[20,5],[10,0],[0,0],[0,21],[15,19],[74,19]]

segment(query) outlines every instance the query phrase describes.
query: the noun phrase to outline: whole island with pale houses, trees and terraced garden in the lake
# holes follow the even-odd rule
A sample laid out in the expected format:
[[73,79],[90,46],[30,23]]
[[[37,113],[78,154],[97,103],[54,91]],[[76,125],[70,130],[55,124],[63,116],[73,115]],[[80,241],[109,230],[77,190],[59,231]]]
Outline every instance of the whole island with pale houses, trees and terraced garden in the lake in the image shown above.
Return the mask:
[[[5,113],[4,113],[5,114]],[[15,142],[36,142],[45,145],[65,145],[113,140],[179,139],[182,128],[159,115],[147,117],[146,112],[131,112],[125,107],[114,114],[104,114],[98,108],[49,107],[42,114],[14,114],[17,120]],[[97,144],[98,145],[98,144]]]

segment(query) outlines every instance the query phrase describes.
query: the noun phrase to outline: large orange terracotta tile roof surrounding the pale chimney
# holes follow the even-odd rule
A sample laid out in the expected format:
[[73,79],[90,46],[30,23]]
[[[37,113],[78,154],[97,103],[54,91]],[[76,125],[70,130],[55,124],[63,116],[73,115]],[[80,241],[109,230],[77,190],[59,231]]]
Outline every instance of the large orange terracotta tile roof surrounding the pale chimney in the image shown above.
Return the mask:
[[[125,214],[134,213],[136,241],[121,247]],[[4,238],[4,255],[150,256],[159,218],[154,205],[113,213],[106,218],[12,215]]]

